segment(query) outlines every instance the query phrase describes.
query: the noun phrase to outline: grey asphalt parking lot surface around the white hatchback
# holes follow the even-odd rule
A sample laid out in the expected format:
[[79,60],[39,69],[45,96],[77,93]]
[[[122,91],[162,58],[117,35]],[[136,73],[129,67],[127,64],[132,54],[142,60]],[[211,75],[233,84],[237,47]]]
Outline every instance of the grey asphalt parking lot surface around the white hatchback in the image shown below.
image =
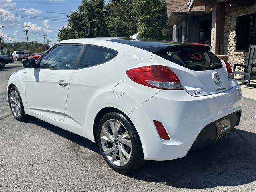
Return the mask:
[[114,172],[93,142],[37,118],[10,115],[6,84],[21,62],[0,69],[0,191],[221,191],[256,189],[256,100],[224,140],[180,159],[149,161],[132,174]]

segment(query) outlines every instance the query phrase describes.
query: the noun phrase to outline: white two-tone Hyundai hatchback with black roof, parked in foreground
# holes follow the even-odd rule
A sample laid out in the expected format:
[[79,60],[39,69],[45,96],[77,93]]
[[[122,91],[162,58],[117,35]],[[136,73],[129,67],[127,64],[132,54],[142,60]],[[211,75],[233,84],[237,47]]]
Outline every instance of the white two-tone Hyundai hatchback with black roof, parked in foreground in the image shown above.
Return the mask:
[[204,44],[64,40],[10,74],[14,118],[34,116],[96,142],[118,172],[172,160],[238,126],[240,86]]

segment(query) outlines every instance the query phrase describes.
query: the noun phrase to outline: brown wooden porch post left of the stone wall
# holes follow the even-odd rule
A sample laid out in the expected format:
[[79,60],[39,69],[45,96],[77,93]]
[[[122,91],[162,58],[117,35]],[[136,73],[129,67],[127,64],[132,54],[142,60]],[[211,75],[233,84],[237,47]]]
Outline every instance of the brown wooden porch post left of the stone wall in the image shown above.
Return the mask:
[[225,4],[212,6],[212,52],[216,55],[224,54],[224,27],[225,27]]

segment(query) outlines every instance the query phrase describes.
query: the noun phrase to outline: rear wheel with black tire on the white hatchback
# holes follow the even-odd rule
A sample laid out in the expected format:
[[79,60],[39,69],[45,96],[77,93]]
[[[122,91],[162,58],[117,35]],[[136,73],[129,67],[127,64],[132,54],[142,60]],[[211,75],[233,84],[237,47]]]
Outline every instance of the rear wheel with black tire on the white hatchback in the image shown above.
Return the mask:
[[[117,137],[114,136],[115,134],[113,134],[112,132],[110,123],[112,124],[112,126],[115,126],[116,123],[118,123],[117,127],[120,127],[120,128],[118,128],[117,130],[117,134],[116,134]],[[106,132],[106,130],[109,131],[108,132],[110,133],[109,136],[112,136],[112,141],[111,141],[112,144],[110,141],[106,141],[108,140],[108,138],[106,140],[103,139],[103,138],[106,138],[105,137],[106,134],[104,133],[104,131]],[[127,135],[127,132],[128,132],[128,135]],[[124,134],[126,134],[126,137],[124,137]],[[120,136],[119,139],[118,139],[118,136]],[[123,137],[121,138],[121,136]],[[143,166],[144,163],[146,162],[144,160],[142,145],[140,142],[138,132],[136,131],[136,128],[134,127],[132,122],[123,114],[120,114],[117,112],[110,112],[105,114],[100,119],[100,122],[98,124],[97,140],[98,140],[98,146],[100,148],[100,153],[102,154],[104,160],[116,172],[120,172],[120,173],[133,172],[134,170],[137,170],[138,168]],[[116,141],[117,141],[117,144],[116,144]],[[122,143],[124,141],[129,141],[128,144],[131,147]],[[107,154],[109,151],[106,152],[106,150],[112,150],[112,149],[113,149],[113,152],[110,154]],[[124,150],[125,152],[122,152]],[[121,156],[119,152],[121,152],[122,154]],[[113,156],[114,156],[114,160],[112,161]],[[122,161],[120,160],[120,157],[122,157]],[[118,162],[118,159],[119,159],[119,162]]]

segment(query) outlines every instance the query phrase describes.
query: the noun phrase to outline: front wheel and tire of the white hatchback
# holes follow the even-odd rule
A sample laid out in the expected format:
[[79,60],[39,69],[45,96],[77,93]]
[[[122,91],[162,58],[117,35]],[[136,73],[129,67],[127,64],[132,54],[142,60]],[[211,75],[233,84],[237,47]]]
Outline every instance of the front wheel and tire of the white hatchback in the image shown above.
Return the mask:
[[12,115],[16,120],[24,121],[29,117],[27,114],[25,114],[20,92],[15,86],[10,89],[8,100]]

